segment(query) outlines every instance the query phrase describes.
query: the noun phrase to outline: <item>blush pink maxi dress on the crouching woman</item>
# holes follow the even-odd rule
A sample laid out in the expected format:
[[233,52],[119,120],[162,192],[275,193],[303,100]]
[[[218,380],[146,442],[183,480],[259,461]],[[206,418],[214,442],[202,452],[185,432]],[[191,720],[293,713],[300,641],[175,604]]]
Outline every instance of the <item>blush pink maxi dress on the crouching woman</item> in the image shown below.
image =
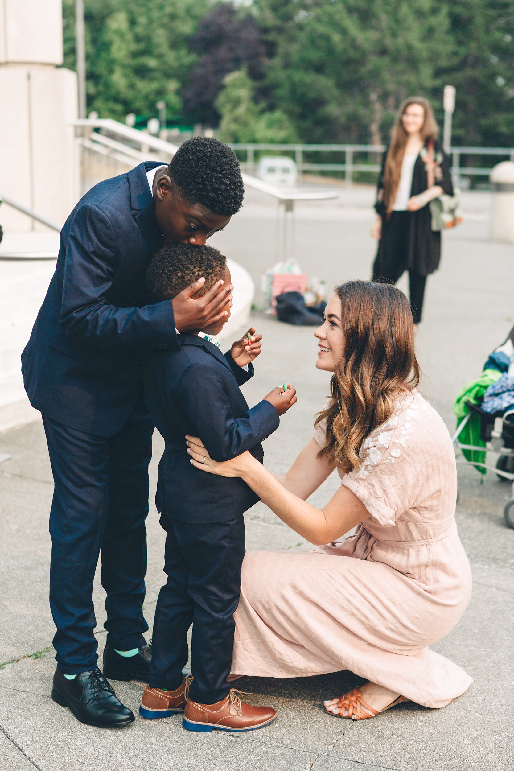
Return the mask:
[[[323,426],[314,439],[324,443]],[[311,552],[247,553],[232,674],[348,669],[418,704],[444,707],[472,683],[428,648],[459,621],[472,584],[455,525],[448,429],[412,392],[365,439],[360,468],[340,476],[370,516],[354,535]]]

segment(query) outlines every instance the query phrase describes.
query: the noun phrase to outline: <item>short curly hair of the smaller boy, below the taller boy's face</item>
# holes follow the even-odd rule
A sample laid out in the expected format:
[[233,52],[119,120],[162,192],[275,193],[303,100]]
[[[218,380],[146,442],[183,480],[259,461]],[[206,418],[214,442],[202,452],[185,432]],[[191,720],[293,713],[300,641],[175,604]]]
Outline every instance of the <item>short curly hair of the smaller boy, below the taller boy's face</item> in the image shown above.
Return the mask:
[[227,258],[212,246],[172,244],[153,255],[146,270],[145,288],[150,302],[176,297],[180,291],[205,276],[200,295],[220,278],[227,268]]

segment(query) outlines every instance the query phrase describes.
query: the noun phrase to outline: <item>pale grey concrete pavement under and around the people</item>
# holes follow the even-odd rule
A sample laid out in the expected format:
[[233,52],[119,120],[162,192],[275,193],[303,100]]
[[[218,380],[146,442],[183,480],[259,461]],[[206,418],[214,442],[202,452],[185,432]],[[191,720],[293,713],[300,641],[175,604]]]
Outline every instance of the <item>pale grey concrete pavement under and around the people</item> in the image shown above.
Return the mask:
[[[480,194],[478,194],[480,195]],[[328,282],[368,278],[374,244],[368,238],[371,214],[366,190],[338,207],[310,207],[297,217],[297,258],[310,274]],[[485,200],[485,199],[484,199]],[[475,210],[473,210],[475,206]],[[418,352],[425,371],[424,392],[432,395],[448,427],[452,400],[463,382],[479,375],[489,351],[514,323],[514,250],[487,237],[487,212],[479,197],[470,199],[469,220],[446,234],[442,269],[428,282],[425,320]],[[473,213],[475,217],[473,218]],[[274,252],[274,212],[253,200],[217,237],[217,246],[244,264],[258,281]],[[257,301],[258,298],[257,298]],[[254,314],[264,334],[257,375],[245,386],[254,403],[284,379],[297,386],[299,401],[267,441],[267,466],[285,470],[311,436],[314,412],[327,393],[328,377],[314,369],[312,328],[281,325]],[[162,440],[156,436],[151,466]],[[0,769],[1,771],[186,771],[186,769],[397,769],[397,771],[483,771],[514,768],[514,530],[502,519],[509,486],[488,474],[459,466],[459,533],[472,564],[472,601],[459,625],[433,646],[475,679],[460,699],[442,710],[406,704],[378,719],[351,723],[325,715],[323,699],[357,684],[348,672],[316,678],[243,678],[255,703],[270,703],[279,718],[261,731],[233,735],[183,731],[180,717],[126,729],[82,726],[49,698],[55,666],[52,619],[48,608],[50,542],[48,512],[52,478],[42,424],[32,423],[0,435]],[[323,505],[337,488],[335,475],[312,497]],[[163,581],[163,534],[151,505],[148,519],[149,571],[146,617],[151,625],[156,594]],[[262,504],[247,514],[247,548],[296,548],[301,538]],[[105,633],[104,594],[95,585],[99,651]],[[135,712],[143,686],[114,683]]]

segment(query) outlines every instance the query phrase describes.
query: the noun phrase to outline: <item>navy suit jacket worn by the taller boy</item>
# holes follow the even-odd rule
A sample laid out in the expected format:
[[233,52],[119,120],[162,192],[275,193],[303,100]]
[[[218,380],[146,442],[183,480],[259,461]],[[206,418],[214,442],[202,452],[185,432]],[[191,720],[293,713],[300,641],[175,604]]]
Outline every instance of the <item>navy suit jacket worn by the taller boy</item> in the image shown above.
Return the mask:
[[[126,422],[146,352],[179,348],[172,302],[146,305],[144,298],[146,268],[163,243],[146,171],[160,165],[140,163],[79,200],[22,353],[32,406],[96,436],[113,436]],[[239,382],[251,376],[229,363]]]

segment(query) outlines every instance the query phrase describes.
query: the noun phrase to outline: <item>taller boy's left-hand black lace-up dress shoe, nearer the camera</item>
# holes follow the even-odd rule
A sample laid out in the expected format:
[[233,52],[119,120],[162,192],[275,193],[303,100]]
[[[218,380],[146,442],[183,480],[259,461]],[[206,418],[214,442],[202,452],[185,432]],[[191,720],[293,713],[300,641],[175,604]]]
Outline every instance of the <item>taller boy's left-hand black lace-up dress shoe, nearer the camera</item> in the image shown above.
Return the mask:
[[133,712],[124,706],[98,668],[81,672],[67,680],[60,669],[55,669],[52,699],[62,707],[69,707],[77,720],[88,726],[117,728],[134,722]]

